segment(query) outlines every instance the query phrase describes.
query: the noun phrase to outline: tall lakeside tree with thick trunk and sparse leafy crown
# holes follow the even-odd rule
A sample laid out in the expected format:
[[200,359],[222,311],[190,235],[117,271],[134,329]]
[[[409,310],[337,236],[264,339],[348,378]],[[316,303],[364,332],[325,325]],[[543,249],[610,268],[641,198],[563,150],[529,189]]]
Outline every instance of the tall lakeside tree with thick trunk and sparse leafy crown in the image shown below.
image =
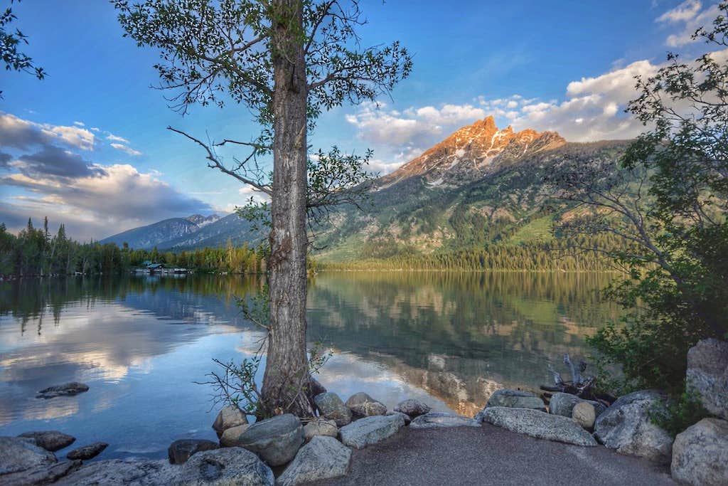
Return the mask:
[[[344,102],[373,101],[411,71],[398,42],[362,48],[357,0],[116,0],[119,21],[140,46],[157,48],[160,87],[174,109],[243,103],[261,125],[247,140],[201,141],[208,165],[271,197],[269,344],[261,398],[268,412],[312,415],[306,393],[306,210],[340,199],[362,180],[363,161],[338,157],[352,177],[309,185],[307,135],[317,117]],[[226,164],[217,149],[249,149]],[[272,154],[273,171],[258,165]],[[320,159],[319,159],[320,160]],[[314,167],[316,161],[313,162]],[[314,196],[312,199],[311,196]]]

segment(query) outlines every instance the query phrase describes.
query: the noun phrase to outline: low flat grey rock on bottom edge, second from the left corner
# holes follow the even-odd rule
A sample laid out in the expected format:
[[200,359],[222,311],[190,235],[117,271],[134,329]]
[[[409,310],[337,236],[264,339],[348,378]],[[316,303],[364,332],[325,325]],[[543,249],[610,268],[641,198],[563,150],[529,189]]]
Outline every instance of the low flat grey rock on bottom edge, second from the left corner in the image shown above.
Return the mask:
[[158,486],[177,485],[180,466],[162,460],[99,460],[73,471],[53,486]]

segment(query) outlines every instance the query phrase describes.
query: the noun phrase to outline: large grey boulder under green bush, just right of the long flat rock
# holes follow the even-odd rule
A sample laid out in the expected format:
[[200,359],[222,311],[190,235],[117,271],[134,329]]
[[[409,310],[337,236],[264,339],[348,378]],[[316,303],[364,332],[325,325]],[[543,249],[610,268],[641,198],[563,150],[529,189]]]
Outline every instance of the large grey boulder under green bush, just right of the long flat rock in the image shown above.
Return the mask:
[[670,463],[673,439],[649,418],[649,409],[663,398],[654,390],[620,397],[596,419],[594,435],[620,454]]

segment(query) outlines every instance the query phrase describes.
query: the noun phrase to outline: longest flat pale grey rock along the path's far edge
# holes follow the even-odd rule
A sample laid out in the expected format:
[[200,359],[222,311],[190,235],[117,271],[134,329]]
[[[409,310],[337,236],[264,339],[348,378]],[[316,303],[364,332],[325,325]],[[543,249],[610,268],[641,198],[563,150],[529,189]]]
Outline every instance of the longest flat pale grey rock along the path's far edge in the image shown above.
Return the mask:
[[483,421],[518,434],[583,446],[596,446],[596,440],[574,420],[529,408],[488,407]]

